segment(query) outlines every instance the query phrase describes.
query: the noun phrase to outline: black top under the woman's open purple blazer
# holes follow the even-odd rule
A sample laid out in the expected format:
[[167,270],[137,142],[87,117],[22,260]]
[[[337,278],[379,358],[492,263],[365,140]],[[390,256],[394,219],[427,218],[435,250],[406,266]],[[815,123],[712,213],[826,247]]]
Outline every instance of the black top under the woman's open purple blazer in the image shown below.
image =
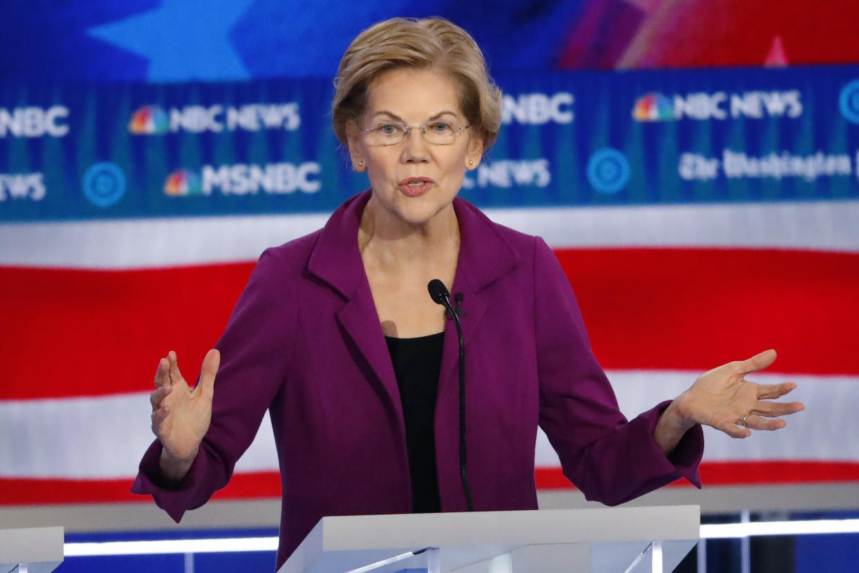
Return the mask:
[[418,338],[385,337],[403,402],[405,445],[409,450],[411,510],[442,510],[436,473],[436,396],[442,370],[444,332]]

